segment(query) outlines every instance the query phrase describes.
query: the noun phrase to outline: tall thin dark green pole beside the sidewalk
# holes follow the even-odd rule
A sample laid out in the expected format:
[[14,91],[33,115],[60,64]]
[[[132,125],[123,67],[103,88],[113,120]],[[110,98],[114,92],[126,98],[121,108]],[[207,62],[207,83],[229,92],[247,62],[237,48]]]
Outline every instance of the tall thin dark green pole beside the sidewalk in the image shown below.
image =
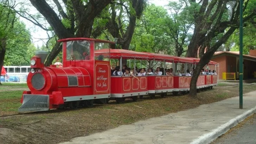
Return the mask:
[[239,109],[243,109],[243,0],[240,0],[239,27]]

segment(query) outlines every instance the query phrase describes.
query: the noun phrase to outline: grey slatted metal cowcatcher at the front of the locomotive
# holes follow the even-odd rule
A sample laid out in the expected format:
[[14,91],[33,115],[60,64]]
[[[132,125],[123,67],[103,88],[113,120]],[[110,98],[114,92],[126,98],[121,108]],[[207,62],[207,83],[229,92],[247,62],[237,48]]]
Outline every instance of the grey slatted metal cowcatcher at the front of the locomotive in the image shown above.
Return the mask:
[[23,103],[18,112],[50,110],[50,96],[43,94],[23,94]]

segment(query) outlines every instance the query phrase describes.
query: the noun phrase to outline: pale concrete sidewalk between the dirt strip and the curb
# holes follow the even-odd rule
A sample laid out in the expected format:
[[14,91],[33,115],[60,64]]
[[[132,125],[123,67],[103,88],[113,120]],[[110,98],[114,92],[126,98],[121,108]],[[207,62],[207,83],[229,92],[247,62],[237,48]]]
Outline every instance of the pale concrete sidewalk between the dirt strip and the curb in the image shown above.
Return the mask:
[[256,91],[244,94],[243,105],[244,109],[239,109],[239,97],[234,97],[77,137],[62,144],[189,144],[199,136],[254,108]]

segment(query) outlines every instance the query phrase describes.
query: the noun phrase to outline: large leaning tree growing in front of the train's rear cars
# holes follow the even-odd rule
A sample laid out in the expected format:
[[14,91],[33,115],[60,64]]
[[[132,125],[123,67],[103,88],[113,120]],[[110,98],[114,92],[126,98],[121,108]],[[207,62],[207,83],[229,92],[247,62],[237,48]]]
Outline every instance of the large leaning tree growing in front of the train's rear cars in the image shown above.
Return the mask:
[[[194,33],[186,56],[197,57],[198,49],[200,55],[190,83],[190,96],[196,96],[196,83],[201,69],[239,27],[240,4],[239,0],[200,0],[199,3],[189,0],[186,4],[194,9]],[[255,18],[255,0],[244,0],[243,11],[244,22]]]

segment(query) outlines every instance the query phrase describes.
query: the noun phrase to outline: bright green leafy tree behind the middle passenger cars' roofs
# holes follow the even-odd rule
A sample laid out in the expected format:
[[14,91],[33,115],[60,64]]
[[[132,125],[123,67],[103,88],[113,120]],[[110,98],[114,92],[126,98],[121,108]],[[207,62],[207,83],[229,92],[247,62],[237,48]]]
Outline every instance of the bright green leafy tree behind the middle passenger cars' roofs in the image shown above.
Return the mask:
[[130,50],[165,53],[174,55],[173,41],[160,25],[165,25],[167,10],[161,6],[149,5],[141,19],[136,21]]

